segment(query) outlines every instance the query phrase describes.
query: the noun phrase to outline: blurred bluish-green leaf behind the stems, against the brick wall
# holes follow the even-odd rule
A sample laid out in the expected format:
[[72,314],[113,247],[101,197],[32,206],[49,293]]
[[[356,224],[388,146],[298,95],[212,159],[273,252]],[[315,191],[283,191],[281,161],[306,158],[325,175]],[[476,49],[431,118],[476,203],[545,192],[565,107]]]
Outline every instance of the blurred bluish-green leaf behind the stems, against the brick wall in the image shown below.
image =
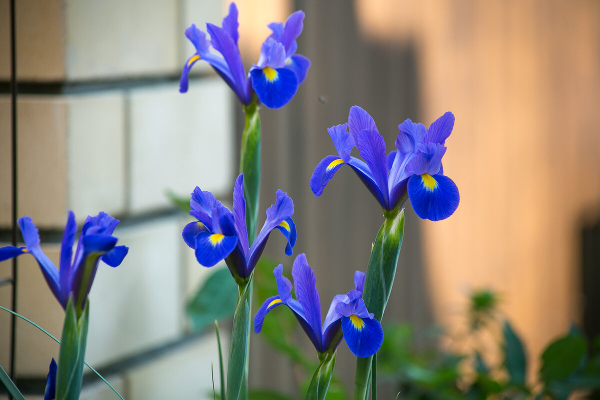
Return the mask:
[[227,268],[215,268],[185,307],[193,330],[205,329],[215,320],[231,318],[235,311],[238,285]]

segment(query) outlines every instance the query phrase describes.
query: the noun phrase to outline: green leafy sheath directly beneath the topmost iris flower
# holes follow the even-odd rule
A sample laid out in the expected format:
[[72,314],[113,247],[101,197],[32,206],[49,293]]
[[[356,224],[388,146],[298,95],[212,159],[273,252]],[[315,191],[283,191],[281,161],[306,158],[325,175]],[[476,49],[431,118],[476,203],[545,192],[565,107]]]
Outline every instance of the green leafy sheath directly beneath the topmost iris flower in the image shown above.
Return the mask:
[[246,224],[248,241],[256,236],[256,221],[259,213],[260,192],[260,116],[256,101],[244,107],[246,115],[239,172],[244,173],[244,199],[246,199]]

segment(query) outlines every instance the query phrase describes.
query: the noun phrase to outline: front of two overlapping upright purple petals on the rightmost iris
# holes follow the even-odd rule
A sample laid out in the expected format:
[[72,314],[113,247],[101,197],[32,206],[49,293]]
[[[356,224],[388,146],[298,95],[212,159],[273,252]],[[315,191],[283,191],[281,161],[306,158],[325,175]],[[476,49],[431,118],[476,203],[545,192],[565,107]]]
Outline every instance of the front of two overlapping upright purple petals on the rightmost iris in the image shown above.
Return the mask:
[[383,195],[384,208],[388,209],[388,156],[385,152],[385,141],[376,130],[370,129],[360,131],[356,139],[356,147]]

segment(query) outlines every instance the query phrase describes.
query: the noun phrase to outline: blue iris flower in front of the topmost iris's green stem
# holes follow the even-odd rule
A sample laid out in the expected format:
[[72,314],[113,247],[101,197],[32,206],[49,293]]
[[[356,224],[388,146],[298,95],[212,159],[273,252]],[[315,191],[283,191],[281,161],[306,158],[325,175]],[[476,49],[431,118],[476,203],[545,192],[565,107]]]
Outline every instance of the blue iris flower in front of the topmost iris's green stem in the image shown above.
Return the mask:
[[185,243],[196,251],[200,264],[212,267],[224,259],[236,279],[250,277],[271,231],[277,229],[286,237],[287,255],[292,255],[296,244],[296,225],[292,220],[294,203],[278,190],[275,204],[266,210],[265,224],[249,246],[243,179],[244,174],[240,174],[233,187],[233,212],[212,193],[196,187],[191,193],[190,215],[197,221],[185,225],[182,233]]

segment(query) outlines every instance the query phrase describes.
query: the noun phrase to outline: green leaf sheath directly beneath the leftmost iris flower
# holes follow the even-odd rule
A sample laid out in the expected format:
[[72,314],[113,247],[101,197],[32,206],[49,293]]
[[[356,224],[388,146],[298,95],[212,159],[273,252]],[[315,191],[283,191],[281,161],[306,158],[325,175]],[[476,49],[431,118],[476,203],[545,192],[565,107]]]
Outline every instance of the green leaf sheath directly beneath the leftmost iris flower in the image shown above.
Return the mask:
[[81,392],[83,358],[88,335],[89,300],[79,321],[71,299],[65,309],[56,371],[56,400],[77,400]]

